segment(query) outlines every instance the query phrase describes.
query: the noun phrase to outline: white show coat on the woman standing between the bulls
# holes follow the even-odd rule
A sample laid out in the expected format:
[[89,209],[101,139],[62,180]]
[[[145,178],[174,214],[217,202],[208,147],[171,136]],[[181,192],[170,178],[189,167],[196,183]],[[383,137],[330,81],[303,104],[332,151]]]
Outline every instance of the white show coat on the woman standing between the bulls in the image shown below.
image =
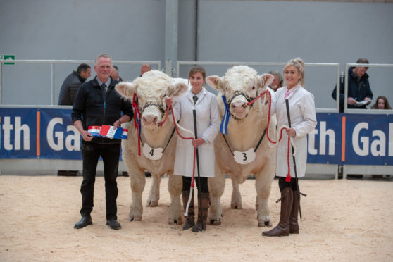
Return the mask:
[[[190,90],[184,96],[181,96],[173,104],[175,119],[180,120],[179,124],[187,130],[194,132],[194,116],[192,111],[196,109],[196,130],[198,137],[204,137],[208,142],[198,146],[199,154],[199,171],[201,177],[214,177],[214,139],[220,130],[220,113],[216,96],[202,89],[198,101],[194,105]],[[180,131],[183,137],[190,137],[187,132]],[[177,136],[175,175],[192,177],[192,166],[194,161],[194,146],[192,139],[182,139]],[[198,176],[195,162],[195,177]]]

